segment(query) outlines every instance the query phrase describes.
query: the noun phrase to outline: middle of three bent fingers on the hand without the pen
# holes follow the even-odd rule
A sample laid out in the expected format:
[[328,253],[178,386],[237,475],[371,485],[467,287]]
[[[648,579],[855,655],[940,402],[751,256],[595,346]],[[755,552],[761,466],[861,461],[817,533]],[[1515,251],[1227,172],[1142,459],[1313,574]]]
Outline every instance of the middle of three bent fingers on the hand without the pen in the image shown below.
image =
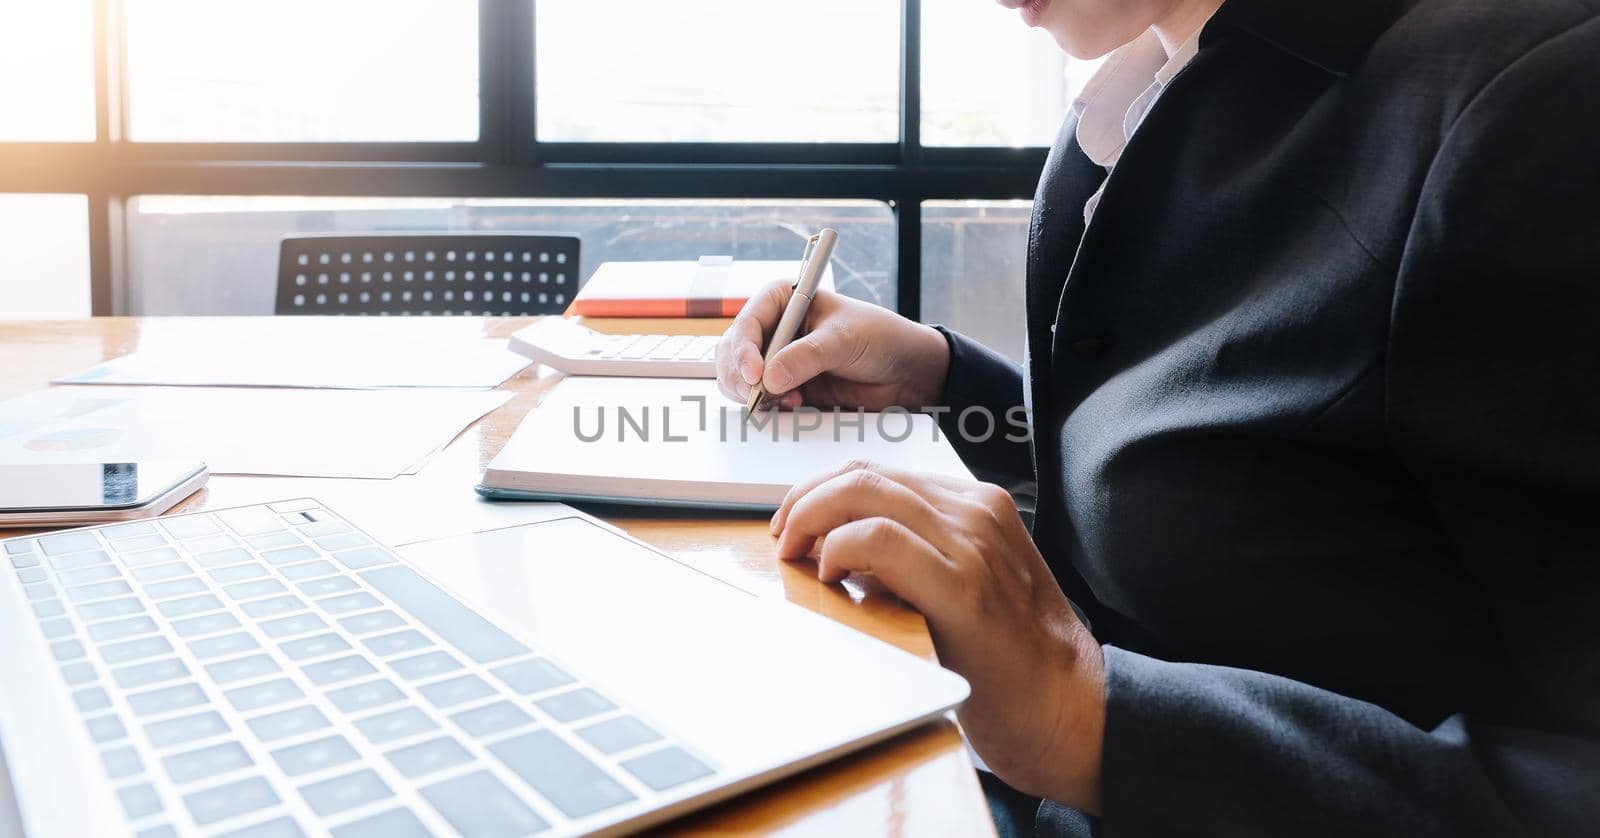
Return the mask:
[[891,518],[949,552],[950,526],[923,496],[870,469],[842,473],[795,501],[778,539],[779,558],[800,558],[816,539],[862,518]]

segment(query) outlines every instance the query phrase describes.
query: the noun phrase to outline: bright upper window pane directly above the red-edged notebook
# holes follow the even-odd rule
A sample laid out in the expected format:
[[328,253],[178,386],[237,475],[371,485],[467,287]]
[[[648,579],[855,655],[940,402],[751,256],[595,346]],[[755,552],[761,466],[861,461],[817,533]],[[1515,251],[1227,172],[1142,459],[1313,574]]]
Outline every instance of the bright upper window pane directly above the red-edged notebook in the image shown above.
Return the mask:
[[899,136],[899,0],[538,0],[536,13],[542,141]]

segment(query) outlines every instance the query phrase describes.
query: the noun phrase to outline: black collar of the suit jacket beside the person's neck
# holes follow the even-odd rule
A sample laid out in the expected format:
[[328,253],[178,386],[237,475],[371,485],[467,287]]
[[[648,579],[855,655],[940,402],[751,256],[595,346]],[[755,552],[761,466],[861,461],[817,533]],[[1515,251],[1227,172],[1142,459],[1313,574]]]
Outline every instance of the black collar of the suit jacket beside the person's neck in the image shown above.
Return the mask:
[[1227,0],[1202,46],[1237,29],[1334,75],[1349,75],[1414,0]]

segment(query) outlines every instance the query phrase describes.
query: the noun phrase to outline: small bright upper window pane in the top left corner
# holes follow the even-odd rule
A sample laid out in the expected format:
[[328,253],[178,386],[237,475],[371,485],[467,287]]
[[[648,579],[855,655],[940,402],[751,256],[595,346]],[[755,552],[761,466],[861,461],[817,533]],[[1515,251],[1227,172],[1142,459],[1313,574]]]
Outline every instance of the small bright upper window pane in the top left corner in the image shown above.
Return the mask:
[[94,141],[90,0],[0,5],[0,142]]

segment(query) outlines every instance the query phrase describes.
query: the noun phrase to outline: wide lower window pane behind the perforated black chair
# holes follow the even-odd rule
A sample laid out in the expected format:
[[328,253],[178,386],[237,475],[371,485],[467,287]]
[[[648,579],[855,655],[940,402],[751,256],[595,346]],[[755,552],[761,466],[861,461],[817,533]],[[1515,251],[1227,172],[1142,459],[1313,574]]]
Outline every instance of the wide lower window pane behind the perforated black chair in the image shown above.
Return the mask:
[[272,313],[278,243],[293,233],[576,233],[581,283],[608,261],[798,259],[822,225],[840,230],[838,289],[893,307],[894,216],[880,202],[139,197],[128,211],[130,313]]

